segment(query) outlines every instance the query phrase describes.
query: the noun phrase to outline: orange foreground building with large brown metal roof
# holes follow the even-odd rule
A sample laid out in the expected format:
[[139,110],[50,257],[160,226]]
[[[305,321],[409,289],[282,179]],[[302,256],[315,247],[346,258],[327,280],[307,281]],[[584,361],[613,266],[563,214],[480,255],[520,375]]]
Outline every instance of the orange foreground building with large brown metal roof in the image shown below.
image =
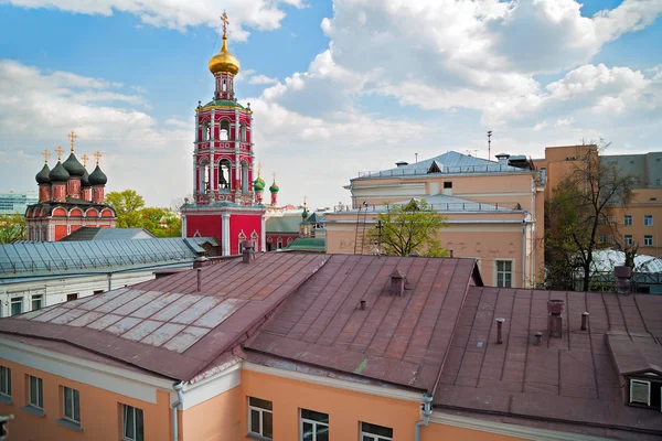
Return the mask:
[[484,288],[474,259],[205,263],[0,320],[12,437],[662,435],[660,297]]

